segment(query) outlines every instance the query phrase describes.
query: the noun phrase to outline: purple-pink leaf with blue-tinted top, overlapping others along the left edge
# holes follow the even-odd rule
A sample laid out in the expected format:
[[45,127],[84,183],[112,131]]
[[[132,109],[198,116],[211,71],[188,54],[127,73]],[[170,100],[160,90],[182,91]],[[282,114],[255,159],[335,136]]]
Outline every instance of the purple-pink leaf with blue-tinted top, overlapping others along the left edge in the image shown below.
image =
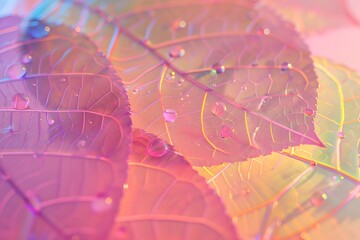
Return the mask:
[[64,26],[2,18],[0,39],[0,238],[104,239],[130,143],[119,78]]

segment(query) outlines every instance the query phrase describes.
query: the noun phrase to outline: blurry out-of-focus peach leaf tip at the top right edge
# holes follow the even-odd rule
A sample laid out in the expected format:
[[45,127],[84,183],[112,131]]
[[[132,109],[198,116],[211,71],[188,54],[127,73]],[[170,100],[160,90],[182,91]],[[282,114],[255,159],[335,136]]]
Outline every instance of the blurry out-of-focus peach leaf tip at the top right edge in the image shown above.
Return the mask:
[[360,19],[351,10],[352,5],[349,0],[261,0],[261,2],[279,12],[306,34],[345,25],[360,26]]

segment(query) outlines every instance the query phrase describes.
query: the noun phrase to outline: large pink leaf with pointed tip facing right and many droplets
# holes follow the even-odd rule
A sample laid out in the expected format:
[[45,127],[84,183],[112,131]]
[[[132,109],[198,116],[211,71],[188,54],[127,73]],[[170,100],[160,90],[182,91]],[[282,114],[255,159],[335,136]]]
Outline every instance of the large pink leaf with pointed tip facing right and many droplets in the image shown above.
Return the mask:
[[134,126],[193,165],[323,146],[304,116],[318,86],[309,52],[271,11],[244,0],[87,2],[47,1],[35,14],[90,36],[132,93]]

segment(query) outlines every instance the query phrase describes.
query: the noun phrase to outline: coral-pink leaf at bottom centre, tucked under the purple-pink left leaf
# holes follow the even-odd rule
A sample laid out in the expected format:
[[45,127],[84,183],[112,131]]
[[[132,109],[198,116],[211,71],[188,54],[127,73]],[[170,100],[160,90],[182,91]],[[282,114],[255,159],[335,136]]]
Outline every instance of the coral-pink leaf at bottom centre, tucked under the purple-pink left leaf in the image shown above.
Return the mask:
[[238,239],[215,192],[154,135],[133,132],[124,187],[111,239]]

